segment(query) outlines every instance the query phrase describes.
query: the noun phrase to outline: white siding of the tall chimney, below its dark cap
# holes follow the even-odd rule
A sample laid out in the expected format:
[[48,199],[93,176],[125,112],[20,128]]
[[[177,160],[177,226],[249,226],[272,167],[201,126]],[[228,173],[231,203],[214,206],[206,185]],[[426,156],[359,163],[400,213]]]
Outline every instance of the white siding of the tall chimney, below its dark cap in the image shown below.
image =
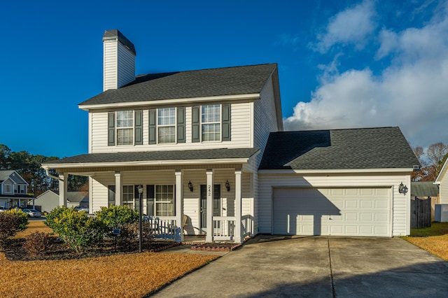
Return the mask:
[[118,41],[104,41],[103,90],[117,89],[135,79],[135,56]]

